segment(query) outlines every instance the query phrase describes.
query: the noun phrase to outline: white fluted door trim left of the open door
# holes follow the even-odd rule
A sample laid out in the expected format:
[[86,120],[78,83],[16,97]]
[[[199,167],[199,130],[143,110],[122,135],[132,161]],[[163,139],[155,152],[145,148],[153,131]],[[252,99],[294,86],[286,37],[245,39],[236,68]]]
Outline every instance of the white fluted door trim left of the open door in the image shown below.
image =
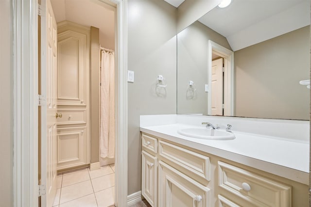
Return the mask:
[[14,207],[38,206],[37,0],[13,0]]

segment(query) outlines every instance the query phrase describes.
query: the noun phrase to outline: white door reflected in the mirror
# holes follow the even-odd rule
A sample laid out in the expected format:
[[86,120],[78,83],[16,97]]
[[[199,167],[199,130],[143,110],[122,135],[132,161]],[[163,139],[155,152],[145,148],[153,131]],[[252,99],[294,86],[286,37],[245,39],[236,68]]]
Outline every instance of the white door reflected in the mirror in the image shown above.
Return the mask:
[[211,115],[223,115],[223,65],[223,58],[212,61]]

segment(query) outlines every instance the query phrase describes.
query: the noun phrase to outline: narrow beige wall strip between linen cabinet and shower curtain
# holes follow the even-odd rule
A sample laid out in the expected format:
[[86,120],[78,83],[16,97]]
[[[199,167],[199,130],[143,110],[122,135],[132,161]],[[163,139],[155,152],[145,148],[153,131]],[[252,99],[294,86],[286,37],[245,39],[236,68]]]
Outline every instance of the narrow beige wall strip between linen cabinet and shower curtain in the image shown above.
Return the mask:
[[99,29],[91,27],[91,163],[99,161],[100,133],[100,53]]

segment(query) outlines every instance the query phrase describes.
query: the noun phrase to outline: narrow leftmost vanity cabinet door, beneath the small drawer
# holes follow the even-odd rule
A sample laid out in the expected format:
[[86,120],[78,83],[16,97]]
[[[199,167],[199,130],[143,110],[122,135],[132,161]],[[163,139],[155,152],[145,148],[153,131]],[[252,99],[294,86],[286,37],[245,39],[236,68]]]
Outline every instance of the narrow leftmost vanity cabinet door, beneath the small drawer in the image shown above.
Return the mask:
[[157,159],[149,153],[141,154],[141,194],[152,207],[157,203]]

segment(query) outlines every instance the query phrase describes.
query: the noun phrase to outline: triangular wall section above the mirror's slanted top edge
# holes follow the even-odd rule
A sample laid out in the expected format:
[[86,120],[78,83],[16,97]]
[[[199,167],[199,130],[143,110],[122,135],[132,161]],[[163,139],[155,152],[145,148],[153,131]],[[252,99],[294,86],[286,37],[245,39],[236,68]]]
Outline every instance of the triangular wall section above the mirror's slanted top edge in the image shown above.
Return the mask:
[[177,9],[177,32],[204,16],[221,0],[185,0]]

